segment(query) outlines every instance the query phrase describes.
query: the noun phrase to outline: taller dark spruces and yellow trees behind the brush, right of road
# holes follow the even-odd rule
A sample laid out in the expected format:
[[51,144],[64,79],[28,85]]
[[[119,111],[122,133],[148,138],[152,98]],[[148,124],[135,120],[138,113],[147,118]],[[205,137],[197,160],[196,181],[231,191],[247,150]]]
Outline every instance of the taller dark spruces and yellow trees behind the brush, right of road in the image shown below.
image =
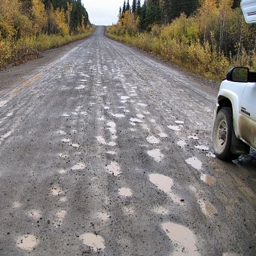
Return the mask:
[[143,5],[133,0],[131,6],[124,0],[118,23],[127,32],[151,32],[156,25],[169,26],[186,17],[187,34],[202,43],[214,38],[218,50],[229,54],[236,51],[237,42],[246,50],[255,50],[255,25],[246,25],[241,15],[239,0],[145,0]]

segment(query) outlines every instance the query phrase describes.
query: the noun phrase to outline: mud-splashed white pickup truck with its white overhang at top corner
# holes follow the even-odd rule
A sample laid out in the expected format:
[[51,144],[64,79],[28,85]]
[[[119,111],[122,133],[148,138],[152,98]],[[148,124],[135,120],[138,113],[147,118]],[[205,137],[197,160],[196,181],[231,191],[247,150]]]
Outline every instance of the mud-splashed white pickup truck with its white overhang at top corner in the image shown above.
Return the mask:
[[[256,0],[242,0],[241,8],[246,23],[256,23]],[[236,67],[227,73],[218,92],[212,142],[221,160],[256,150],[256,72]]]

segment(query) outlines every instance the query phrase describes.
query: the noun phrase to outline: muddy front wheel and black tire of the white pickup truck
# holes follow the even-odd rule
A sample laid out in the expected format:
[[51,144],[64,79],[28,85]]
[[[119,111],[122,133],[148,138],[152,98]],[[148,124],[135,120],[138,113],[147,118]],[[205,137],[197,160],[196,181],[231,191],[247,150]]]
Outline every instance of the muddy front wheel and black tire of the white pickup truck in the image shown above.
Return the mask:
[[215,118],[212,132],[213,149],[216,157],[221,160],[235,160],[238,154],[231,152],[233,131],[233,114],[231,108],[221,108]]

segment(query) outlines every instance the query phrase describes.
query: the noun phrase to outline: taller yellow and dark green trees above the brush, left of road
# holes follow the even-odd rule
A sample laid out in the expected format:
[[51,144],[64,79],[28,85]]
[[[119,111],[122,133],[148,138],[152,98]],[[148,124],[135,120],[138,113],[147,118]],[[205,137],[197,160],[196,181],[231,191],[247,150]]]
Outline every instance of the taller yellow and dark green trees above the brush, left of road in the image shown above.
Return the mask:
[[1,0],[0,38],[72,34],[90,24],[81,0]]

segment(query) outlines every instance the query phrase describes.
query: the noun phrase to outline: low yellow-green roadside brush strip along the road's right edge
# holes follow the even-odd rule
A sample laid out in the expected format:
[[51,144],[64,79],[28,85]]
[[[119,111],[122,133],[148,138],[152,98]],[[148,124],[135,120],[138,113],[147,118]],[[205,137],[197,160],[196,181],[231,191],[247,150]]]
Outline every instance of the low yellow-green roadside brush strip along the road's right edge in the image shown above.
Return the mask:
[[245,51],[239,56],[228,58],[224,54],[219,54],[218,50],[208,43],[204,45],[199,41],[188,43],[185,38],[182,40],[163,39],[146,32],[135,35],[127,33],[117,35],[115,31],[111,31],[111,28],[107,29],[106,35],[111,39],[138,47],[161,59],[175,63],[203,78],[215,81],[224,79],[227,71],[233,66],[248,66],[255,69],[256,57],[251,58]]

